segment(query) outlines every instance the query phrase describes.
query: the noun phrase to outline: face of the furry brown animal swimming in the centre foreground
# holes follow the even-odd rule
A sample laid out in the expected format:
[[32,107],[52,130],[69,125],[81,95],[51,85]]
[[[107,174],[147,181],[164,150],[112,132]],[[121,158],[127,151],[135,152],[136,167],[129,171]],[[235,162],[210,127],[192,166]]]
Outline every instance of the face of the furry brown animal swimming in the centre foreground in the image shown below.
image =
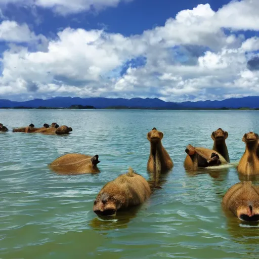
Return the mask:
[[107,192],[99,193],[94,201],[94,212],[100,216],[111,216],[117,211],[117,200]]

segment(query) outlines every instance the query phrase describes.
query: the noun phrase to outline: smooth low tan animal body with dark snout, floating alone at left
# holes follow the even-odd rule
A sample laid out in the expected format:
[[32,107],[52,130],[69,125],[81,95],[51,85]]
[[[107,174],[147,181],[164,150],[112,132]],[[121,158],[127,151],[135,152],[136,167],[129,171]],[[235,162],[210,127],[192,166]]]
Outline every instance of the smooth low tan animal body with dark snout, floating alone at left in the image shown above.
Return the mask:
[[100,172],[97,167],[100,163],[98,158],[98,155],[65,154],[55,159],[49,166],[54,171],[63,174],[97,174]]

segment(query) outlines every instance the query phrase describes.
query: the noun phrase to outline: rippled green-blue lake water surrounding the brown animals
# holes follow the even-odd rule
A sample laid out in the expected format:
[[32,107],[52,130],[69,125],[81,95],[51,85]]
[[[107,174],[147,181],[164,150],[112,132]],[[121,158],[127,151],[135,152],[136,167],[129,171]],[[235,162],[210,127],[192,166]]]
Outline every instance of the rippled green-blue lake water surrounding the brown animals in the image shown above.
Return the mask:
[[[231,162],[245,133],[259,133],[257,111],[0,110],[0,258],[259,258],[258,226],[226,218],[221,201],[239,176],[234,166],[206,174],[183,167],[188,144],[212,148],[228,131]],[[57,122],[69,136],[12,133]],[[156,127],[174,168],[150,199],[110,220],[93,212],[103,185],[132,166],[146,179]],[[99,154],[98,175],[63,176],[47,164],[65,153]]]

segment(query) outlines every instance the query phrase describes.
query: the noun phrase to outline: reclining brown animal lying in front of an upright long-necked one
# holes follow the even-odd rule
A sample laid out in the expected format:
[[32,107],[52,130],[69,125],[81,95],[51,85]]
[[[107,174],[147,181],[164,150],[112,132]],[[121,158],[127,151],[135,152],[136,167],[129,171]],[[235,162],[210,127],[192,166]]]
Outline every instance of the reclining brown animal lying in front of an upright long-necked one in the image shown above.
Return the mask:
[[215,150],[188,145],[185,152],[187,156],[184,161],[184,166],[188,169],[228,163],[225,158]]

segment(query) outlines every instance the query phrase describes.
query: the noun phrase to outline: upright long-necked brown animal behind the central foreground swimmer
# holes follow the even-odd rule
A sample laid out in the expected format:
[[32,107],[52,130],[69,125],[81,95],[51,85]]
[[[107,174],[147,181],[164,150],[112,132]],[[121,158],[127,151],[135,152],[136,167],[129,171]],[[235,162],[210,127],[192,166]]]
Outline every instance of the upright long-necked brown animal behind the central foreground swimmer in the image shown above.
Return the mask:
[[155,127],[147,134],[147,139],[150,142],[150,154],[147,163],[149,172],[163,173],[174,166],[172,159],[162,145],[162,138],[163,133],[157,131]]

